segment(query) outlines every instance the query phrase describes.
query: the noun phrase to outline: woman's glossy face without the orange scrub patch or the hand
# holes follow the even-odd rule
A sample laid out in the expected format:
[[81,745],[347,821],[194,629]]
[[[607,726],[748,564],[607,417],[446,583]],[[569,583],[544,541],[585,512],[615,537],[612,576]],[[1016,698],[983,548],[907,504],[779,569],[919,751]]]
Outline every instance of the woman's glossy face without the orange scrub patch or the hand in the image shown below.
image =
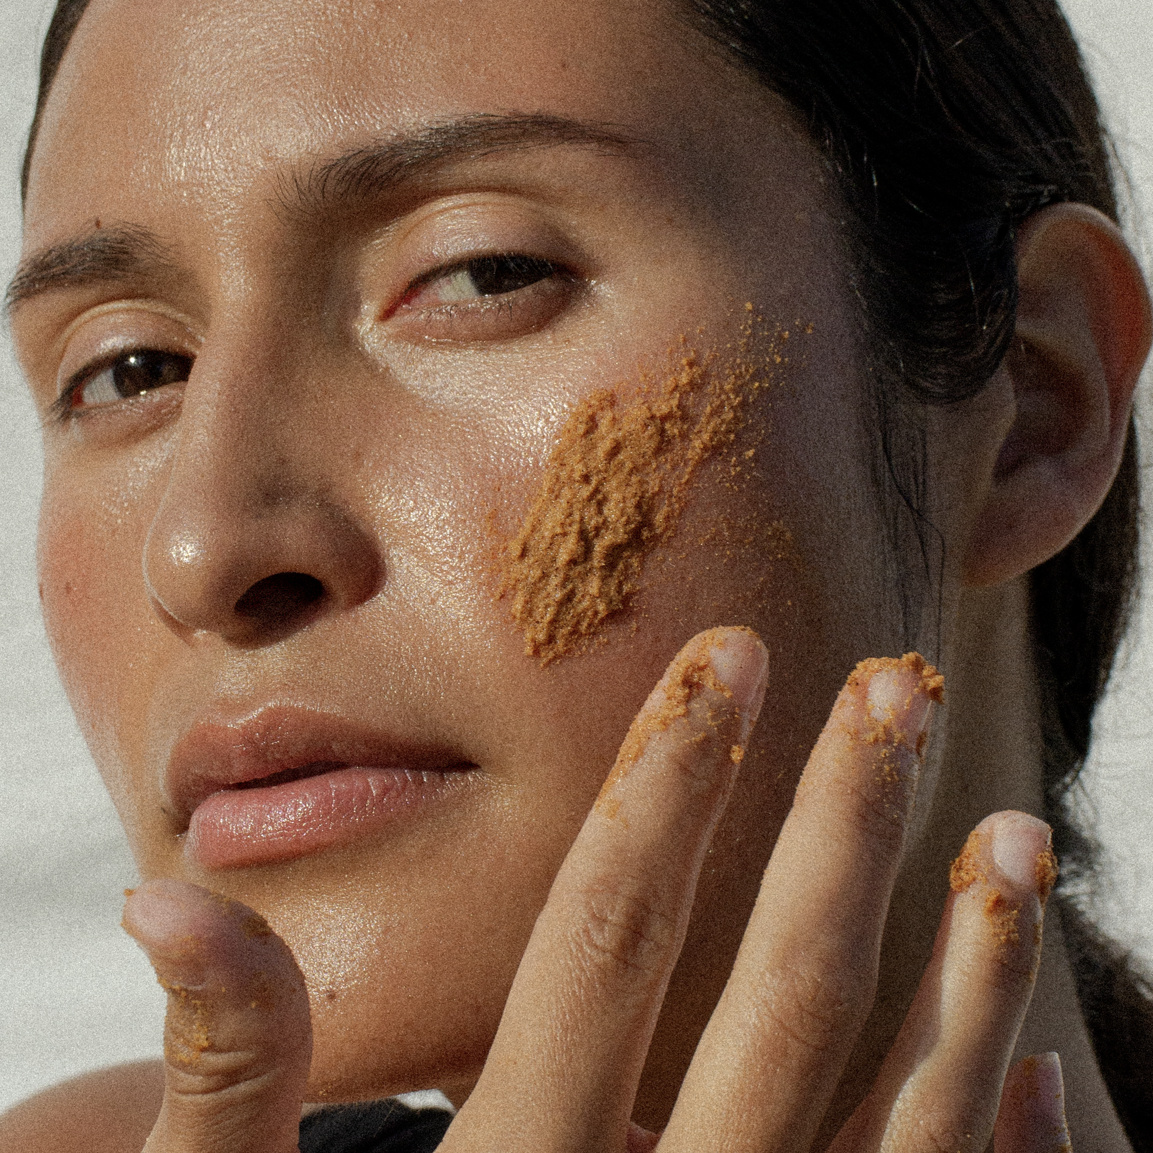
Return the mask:
[[[651,1062],[687,1060],[837,686],[899,643],[838,216],[784,107],[648,0],[93,0],[25,223],[18,349],[45,412],[70,389],[61,673],[142,874],[292,945],[315,1097],[467,1091],[663,666],[766,639]],[[567,415],[635,413],[686,348],[762,386],[542,665],[506,542]]]

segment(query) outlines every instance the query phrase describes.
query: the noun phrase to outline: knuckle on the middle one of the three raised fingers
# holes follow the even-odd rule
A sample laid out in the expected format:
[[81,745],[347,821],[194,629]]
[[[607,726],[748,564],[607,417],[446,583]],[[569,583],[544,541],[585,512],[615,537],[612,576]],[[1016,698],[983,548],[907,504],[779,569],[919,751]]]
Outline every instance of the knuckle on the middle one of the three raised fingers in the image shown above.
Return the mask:
[[769,1031],[809,1053],[824,1054],[857,1035],[875,986],[871,973],[786,967],[766,985],[759,1016]]

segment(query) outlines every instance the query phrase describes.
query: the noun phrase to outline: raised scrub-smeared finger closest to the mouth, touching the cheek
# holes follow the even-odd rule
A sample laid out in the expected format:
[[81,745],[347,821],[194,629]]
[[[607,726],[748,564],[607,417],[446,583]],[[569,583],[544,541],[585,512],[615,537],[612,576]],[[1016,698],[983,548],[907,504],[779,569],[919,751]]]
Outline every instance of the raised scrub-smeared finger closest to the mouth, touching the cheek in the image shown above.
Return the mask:
[[557,874],[484,1071],[444,1150],[625,1150],[696,877],[760,708],[767,663],[748,630],[709,630],[649,695]]

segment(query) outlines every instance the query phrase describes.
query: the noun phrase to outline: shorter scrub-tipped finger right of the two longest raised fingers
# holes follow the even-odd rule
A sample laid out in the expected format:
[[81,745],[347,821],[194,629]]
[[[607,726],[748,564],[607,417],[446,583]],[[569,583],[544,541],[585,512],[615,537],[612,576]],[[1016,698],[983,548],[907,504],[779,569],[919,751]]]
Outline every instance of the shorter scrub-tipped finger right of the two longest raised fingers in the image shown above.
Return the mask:
[[970,835],[905,1023],[830,1153],[987,1147],[1037,977],[1049,839],[1025,813],[996,813]]

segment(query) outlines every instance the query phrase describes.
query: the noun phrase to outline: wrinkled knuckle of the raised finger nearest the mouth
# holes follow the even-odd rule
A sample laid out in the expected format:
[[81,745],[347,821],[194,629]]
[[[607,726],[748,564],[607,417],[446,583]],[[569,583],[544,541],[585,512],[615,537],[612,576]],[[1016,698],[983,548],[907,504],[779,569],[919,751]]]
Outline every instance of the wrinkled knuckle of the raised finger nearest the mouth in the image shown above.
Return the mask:
[[585,887],[581,909],[574,947],[586,970],[633,977],[663,972],[678,925],[660,903],[601,880]]

